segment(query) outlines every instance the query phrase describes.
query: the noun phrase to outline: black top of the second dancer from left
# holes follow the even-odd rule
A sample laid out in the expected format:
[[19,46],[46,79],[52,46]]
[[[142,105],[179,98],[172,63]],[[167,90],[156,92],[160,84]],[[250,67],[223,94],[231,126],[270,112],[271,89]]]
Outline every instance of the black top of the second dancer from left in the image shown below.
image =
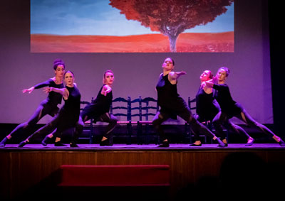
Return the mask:
[[68,87],[69,96],[61,108],[60,114],[66,115],[69,121],[78,121],[80,114],[81,93],[76,86]]

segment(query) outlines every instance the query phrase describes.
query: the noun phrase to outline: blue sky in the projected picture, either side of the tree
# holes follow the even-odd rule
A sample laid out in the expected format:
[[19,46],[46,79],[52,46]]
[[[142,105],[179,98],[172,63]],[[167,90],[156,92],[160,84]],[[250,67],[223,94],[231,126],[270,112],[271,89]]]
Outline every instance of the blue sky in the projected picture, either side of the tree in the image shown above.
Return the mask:
[[[128,21],[108,0],[31,0],[31,33],[56,35],[129,36],[149,33],[138,21]],[[184,33],[234,31],[234,4],[205,26]]]

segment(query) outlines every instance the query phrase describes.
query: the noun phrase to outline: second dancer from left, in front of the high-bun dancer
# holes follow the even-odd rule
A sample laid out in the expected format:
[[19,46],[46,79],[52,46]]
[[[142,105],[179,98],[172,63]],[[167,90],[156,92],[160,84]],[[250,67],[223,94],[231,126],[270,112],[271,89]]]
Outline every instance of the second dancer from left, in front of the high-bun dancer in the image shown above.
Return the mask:
[[[76,87],[76,83],[74,83],[74,74],[70,70],[66,71],[64,74],[64,81],[66,82],[66,87],[63,89],[57,89],[54,87],[46,87],[45,91],[48,93],[56,92],[61,94],[64,99],[64,105],[61,107],[61,110],[58,114],[45,126],[38,129],[38,131],[28,136],[26,140],[19,143],[19,147],[25,146],[27,143],[33,141],[35,136],[42,136],[43,134],[47,134],[48,131],[56,129],[56,131],[52,134],[56,137],[55,146],[66,146],[61,142],[61,134],[66,129],[70,129],[76,126],[76,122],[78,122],[79,114],[80,114],[80,104],[81,104],[81,94]],[[71,142],[71,147],[74,147]]]

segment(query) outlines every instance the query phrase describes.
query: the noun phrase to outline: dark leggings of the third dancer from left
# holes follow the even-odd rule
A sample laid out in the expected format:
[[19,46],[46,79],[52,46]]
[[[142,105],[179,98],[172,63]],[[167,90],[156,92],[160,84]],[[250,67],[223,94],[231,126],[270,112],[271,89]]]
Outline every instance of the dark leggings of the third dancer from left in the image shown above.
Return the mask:
[[[76,123],[76,131],[73,135],[73,141],[77,141],[78,137],[81,136],[82,131],[83,131],[83,127],[84,127],[84,122],[88,121],[90,119],[90,116],[88,115],[81,115],[79,117],[78,122]],[[107,122],[109,123],[107,128],[105,129],[105,132],[103,134],[103,136],[105,138],[109,138],[111,131],[113,131],[113,129],[115,128],[115,126],[117,125],[117,121],[118,119],[113,116],[113,114],[109,114],[108,112],[100,115],[98,118],[95,119],[95,121],[103,121],[103,122]]]

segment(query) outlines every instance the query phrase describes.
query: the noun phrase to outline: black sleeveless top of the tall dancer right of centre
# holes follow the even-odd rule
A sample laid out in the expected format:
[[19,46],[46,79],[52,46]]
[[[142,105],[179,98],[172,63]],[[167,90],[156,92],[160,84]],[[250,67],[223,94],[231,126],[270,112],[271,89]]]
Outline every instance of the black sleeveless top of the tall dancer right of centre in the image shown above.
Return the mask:
[[176,119],[176,115],[180,112],[185,112],[187,104],[177,93],[177,83],[172,85],[168,80],[168,74],[165,76],[160,75],[156,89],[157,103],[161,107],[160,112],[172,115],[172,119]]

